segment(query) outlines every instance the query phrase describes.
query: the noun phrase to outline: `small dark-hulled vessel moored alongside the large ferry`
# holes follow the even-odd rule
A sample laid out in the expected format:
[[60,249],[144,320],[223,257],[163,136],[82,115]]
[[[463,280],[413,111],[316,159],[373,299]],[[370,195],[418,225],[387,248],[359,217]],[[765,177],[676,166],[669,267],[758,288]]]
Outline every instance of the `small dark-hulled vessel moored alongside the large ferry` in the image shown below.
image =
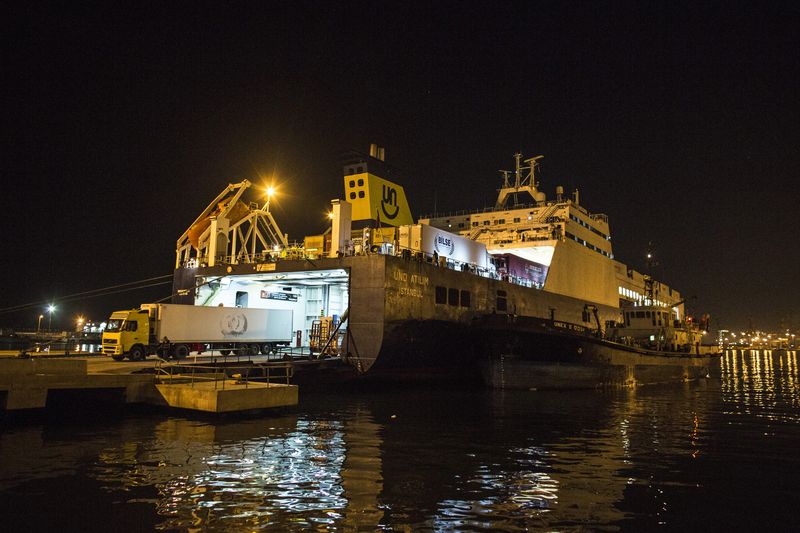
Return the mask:
[[[478,326],[487,339],[483,378],[493,388],[546,390],[628,388],[707,377],[719,353],[700,345],[702,331],[691,322],[655,319],[668,312],[648,307],[625,311],[625,322],[606,331],[527,317],[484,319]],[[639,323],[645,321],[647,327]]]

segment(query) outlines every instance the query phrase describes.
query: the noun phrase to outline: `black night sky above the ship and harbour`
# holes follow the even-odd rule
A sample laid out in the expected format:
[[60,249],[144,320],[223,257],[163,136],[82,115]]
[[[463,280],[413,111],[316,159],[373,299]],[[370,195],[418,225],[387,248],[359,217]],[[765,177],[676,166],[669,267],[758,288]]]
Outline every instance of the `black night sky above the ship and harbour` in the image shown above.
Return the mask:
[[[0,325],[169,295],[228,184],[291,239],[386,149],[415,217],[493,204],[517,151],[608,214],[616,258],[723,328],[800,325],[800,8],[724,2],[17,3],[5,13]],[[702,5],[701,5],[702,4]]]

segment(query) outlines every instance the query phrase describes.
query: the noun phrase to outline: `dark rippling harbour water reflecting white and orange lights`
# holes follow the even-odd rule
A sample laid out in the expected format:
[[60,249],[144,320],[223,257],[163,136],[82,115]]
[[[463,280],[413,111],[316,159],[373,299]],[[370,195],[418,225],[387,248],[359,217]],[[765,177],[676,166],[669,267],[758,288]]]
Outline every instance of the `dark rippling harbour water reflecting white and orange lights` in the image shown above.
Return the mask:
[[[6,531],[794,529],[796,353],[616,392],[301,392],[278,415],[7,425]],[[87,413],[91,408],[87,408]]]

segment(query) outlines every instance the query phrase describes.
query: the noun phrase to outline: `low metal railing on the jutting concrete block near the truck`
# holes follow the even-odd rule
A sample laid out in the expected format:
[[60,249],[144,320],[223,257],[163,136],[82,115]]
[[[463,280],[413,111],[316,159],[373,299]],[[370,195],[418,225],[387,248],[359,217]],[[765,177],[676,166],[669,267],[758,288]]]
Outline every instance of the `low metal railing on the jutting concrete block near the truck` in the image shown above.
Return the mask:
[[254,383],[288,385],[293,374],[294,365],[291,361],[217,366],[169,363],[159,358],[154,367],[156,383],[188,384],[191,388],[210,383],[214,390],[225,390],[232,386],[248,388]]

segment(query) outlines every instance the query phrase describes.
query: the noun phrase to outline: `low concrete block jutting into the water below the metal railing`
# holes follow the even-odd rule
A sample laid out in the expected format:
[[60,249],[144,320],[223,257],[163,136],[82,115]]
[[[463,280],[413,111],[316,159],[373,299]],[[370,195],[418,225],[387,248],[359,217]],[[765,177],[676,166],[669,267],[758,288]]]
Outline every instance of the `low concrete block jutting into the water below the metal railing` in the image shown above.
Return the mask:
[[237,380],[160,383],[156,389],[166,405],[207,413],[230,413],[297,405],[297,385],[242,383]]

